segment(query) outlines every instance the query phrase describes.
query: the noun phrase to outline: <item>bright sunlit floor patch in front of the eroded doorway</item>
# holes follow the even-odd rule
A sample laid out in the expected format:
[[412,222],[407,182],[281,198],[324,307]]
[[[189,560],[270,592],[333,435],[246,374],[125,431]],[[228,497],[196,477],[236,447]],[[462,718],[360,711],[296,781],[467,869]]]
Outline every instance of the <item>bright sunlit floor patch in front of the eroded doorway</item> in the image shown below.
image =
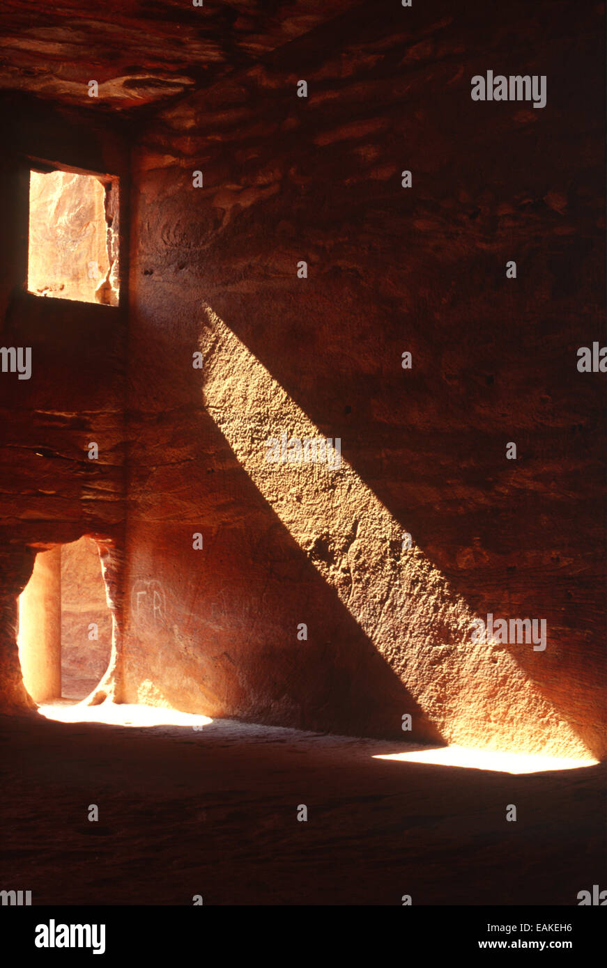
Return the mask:
[[213,720],[208,716],[192,712],[167,710],[160,706],[137,706],[129,703],[101,703],[99,706],[65,705],[64,703],[48,703],[38,707],[41,715],[46,719],[57,722],[106,723],[112,726],[207,726]]

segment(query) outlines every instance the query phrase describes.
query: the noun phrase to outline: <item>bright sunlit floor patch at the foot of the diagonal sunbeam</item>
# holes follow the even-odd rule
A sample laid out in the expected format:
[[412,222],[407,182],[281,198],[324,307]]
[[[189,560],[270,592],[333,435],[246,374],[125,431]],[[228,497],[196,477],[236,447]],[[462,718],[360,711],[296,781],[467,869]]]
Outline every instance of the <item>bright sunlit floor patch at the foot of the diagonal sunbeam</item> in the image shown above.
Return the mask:
[[399,760],[403,763],[427,763],[437,767],[464,767],[499,773],[540,773],[553,770],[577,770],[592,767],[598,760],[564,759],[556,756],[532,756],[524,753],[497,753],[488,749],[464,746],[440,746],[415,749],[407,753],[376,754],[374,760]]

